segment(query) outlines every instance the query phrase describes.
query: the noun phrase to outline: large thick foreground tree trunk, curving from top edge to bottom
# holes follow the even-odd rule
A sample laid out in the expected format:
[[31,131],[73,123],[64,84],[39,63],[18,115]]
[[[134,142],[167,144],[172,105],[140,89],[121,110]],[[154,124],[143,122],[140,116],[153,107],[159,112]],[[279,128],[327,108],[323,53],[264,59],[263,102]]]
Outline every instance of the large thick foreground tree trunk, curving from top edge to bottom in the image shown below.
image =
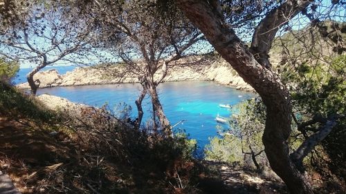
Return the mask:
[[291,193],[313,193],[311,186],[289,158],[287,139],[291,133],[291,101],[280,78],[257,61],[251,50],[224,23],[208,1],[179,0],[180,8],[197,26],[219,54],[266,104],[266,127],[263,142],[273,171],[286,183]]

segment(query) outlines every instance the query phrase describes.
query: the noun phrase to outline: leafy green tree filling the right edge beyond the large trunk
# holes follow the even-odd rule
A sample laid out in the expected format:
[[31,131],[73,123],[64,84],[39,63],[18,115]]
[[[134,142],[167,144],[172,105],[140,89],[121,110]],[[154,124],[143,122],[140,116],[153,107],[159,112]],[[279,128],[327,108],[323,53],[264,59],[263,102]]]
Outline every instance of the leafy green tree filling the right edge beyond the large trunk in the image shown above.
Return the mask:
[[[300,32],[301,34],[303,32]],[[309,32],[311,35],[311,32]],[[305,39],[310,39],[305,36]],[[319,37],[320,42],[325,45],[321,52],[333,52],[334,46],[329,48],[326,42]],[[294,43],[295,41],[293,41]],[[302,41],[301,43],[304,43]],[[295,44],[295,48],[298,50]],[[304,44],[306,46],[308,44]],[[307,48],[311,48],[308,46]],[[335,48],[335,47],[334,47]],[[311,54],[305,52],[304,48],[300,48],[304,55]],[[318,59],[320,52],[311,49],[312,53],[309,57],[291,56],[284,57],[284,64],[280,69],[282,79],[290,86],[292,102],[293,102],[293,121],[295,122],[295,135],[293,141],[301,141],[300,139],[309,139],[325,128],[325,135],[329,135],[317,148],[310,146],[311,153],[308,150],[302,151],[304,146],[300,146],[292,158],[298,155],[308,155],[311,158],[311,166],[315,168],[325,180],[331,177],[331,173],[343,177],[345,168],[341,161],[345,158],[345,98],[346,82],[345,82],[345,55],[338,56],[335,52],[329,55],[323,55]],[[318,53],[318,55],[316,55]],[[284,55],[285,56],[285,55]],[[307,60],[309,59],[309,60]],[[286,68],[284,68],[286,67]],[[329,134],[330,133],[330,134]],[[322,136],[319,135],[320,138]],[[310,142],[316,144],[318,141]],[[324,148],[324,149],[322,149]],[[324,151],[323,151],[324,150]],[[323,157],[328,158],[322,159]],[[301,157],[300,157],[301,158]],[[330,160],[330,162],[328,162]],[[296,161],[296,165],[300,171],[305,171],[302,159]],[[323,166],[329,166],[325,168]],[[337,166],[337,167],[336,167]],[[328,171],[328,173],[327,173]]]

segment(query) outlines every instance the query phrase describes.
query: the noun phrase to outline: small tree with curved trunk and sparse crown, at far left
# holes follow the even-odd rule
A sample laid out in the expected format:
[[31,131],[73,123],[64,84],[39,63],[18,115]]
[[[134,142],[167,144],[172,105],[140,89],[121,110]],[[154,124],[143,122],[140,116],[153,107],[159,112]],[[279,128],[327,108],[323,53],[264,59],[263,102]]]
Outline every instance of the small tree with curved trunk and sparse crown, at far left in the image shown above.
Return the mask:
[[28,4],[26,14],[15,15],[16,22],[1,34],[0,56],[35,66],[27,79],[32,95],[39,88],[34,75],[46,66],[68,62],[81,64],[91,51],[91,32],[77,8],[60,6],[62,2],[46,1]]

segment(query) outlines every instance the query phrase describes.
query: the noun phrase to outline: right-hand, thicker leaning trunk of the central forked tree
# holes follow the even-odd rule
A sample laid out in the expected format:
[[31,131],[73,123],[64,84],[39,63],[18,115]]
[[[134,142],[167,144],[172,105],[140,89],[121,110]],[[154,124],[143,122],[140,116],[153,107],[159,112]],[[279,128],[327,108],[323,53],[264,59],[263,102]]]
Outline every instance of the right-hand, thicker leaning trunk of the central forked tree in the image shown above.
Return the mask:
[[[170,127],[170,121],[167,119],[165,113],[163,112],[163,107],[161,105],[160,100],[158,99],[158,95],[156,92],[156,88],[150,87],[148,88],[150,96],[152,97],[152,104],[153,108],[155,110],[156,117],[158,117],[158,121],[161,124],[161,128],[163,130],[163,133],[165,136],[170,137],[172,136],[172,129]],[[154,115],[155,117],[155,115]]]

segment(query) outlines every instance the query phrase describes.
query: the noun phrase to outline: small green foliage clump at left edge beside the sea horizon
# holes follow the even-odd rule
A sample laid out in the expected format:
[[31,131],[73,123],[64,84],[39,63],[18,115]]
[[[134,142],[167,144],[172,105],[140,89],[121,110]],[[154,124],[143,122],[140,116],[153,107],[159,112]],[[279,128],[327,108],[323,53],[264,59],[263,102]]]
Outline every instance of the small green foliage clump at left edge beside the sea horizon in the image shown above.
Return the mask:
[[19,71],[19,64],[15,61],[5,61],[0,58],[0,81],[10,83],[12,78],[17,75]]

